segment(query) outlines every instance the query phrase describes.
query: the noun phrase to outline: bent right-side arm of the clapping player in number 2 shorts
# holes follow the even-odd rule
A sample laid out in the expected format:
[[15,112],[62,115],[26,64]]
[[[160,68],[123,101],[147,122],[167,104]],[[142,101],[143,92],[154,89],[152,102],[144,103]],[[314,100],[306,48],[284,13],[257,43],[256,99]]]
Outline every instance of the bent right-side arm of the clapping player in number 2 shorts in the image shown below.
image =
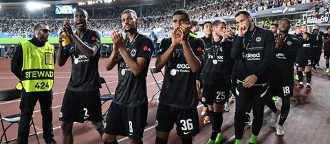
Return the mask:
[[[83,53],[83,55],[87,56],[87,58],[91,59],[93,58],[96,53],[98,52],[99,45],[95,44],[85,44],[83,40],[81,40],[74,32],[72,31],[72,25],[69,23],[69,21],[66,21],[64,24],[65,29],[67,31],[67,34],[74,40],[74,43],[76,44],[76,48]],[[96,33],[95,40],[100,41],[100,36],[98,33]]]

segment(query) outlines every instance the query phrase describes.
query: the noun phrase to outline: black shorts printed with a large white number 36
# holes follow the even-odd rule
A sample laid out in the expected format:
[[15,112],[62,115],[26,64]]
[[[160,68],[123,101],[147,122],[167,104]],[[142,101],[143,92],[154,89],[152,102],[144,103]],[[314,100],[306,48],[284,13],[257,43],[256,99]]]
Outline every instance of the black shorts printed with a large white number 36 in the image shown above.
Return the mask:
[[197,108],[173,108],[159,103],[156,115],[156,130],[170,132],[174,123],[177,125],[177,135],[191,138],[199,133]]

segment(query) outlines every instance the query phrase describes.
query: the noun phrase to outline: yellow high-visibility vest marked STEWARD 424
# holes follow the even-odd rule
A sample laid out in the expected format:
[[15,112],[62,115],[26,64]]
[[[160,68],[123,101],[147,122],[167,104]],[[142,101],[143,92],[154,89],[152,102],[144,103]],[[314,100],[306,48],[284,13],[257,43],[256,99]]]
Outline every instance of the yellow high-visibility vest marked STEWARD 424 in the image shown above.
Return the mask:
[[54,47],[50,43],[36,47],[30,41],[21,45],[23,88],[26,92],[50,91],[54,84]]

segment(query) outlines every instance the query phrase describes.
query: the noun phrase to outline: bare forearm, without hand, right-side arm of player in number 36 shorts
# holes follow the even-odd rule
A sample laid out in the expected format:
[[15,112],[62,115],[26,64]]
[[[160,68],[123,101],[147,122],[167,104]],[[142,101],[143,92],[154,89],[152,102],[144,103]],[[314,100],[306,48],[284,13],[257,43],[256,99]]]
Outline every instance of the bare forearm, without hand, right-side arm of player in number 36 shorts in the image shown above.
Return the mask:
[[189,64],[191,71],[196,73],[201,68],[201,61],[197,58],[195,53],[192,52],[188,41],[185,40],[182,43],[182,47],[184,49],[184,55],[186,56],[186,61]]

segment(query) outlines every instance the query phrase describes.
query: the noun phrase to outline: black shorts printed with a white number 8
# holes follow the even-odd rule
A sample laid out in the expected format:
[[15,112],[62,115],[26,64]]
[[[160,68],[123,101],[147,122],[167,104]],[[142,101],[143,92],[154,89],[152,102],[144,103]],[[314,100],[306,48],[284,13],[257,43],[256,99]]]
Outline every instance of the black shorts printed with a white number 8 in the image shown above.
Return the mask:
[[129,136],[130,139],[142,139],[147,115],[148,104],[127,107],[113,102],[109,107],[104,133]]

